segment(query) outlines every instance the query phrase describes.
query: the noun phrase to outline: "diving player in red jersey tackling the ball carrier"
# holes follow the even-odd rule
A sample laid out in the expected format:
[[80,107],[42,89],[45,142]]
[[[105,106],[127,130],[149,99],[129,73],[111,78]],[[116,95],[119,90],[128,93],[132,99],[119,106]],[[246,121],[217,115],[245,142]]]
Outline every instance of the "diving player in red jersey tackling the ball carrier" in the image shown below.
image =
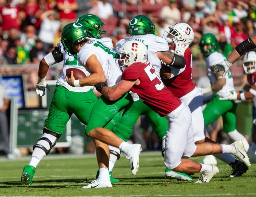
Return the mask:
[[[242,141],[236,141],[232,145],[201,143],[195,146],[189,107],[163,84],[154,67],[147,61],[148,49],[142,42],[127,41],[119,48],[119,53],[120,60],[127,66],[123,71],[122,80],[113,87],[103,85],[101,93],[109,100],[116,100],[130,91],[134,100],[143,100],[168,120],[164,151],[164,163],[168,169],[185,173],[202,172],[196,181],[202,183],[209,182],[219,172],[218,167],[196,163],[191,159],[181,158],[182,156],[230,153],[250,166]],[[242,154],[239,154],[239,151]]]

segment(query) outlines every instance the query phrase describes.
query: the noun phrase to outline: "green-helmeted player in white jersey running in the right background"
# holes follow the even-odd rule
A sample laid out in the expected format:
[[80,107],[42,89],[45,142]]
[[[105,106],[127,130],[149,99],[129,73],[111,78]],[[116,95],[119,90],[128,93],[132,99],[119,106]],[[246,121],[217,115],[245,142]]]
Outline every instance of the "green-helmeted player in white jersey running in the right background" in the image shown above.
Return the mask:
[[205,126],[213,123],[221,115],[223,119],[223,130],[233,140],[242,139],[247,151],[249,144],[245,137],[236,130],[236,107],[237,103],[232,100],[220,100],[220,97],[234,94],[233,78],[228,71],[226,76],[222,72],[213,71],[213,65],[219,61],[225,61],[225,56],[218,52],[219,45],[213,34],[204,34],[199,43],[200,50],[206,61],[207,75],[211,81],[211,86],[202,88],[202,94],[213,92],[215,97],[207,104],[203,111]]

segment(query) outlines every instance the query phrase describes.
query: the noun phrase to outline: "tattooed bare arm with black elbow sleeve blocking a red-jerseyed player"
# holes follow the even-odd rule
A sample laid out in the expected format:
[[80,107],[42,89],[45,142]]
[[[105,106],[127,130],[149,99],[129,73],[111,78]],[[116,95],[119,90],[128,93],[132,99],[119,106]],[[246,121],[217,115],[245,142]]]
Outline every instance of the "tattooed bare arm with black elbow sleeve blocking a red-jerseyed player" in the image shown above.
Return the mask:
[[184,68],[186,66],[186,59],[183,56],[177,55],[169,50],[157,51],[156,55],[167,65],[173,66],[174,68]]

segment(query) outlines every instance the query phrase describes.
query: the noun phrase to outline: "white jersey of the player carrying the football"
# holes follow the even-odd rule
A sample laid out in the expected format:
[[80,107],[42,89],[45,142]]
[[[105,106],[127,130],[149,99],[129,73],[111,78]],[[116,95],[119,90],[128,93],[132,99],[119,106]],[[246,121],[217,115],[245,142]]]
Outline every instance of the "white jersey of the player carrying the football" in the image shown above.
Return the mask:
[[78,61],[86,67],[87,59],[95,54],[102,65],[106,85],[111,87],[121,81],[122,72],[118,67],[116,53],[98,40],[86,43],[77,53]]

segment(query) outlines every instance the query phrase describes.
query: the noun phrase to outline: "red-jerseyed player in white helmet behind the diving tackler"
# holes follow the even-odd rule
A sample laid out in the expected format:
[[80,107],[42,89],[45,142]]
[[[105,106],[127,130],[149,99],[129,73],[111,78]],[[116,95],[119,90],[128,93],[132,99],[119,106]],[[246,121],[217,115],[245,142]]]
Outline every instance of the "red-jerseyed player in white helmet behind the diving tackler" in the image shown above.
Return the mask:
[[[193,42],[194,32],[187,23],[175,23],[169,26],[169,31],[165,31],[163,38],[167,40],[168,44],[170,45],[170,49],[175,49],[176,45],[189,46]],[[192,53],[190,48],[185,50],[184,57],[187,64],[182,69],[162,65],[160,69],[161,79],[167,88],[180,100],[185,102],[190,108],[195,144],[204,142],[215,143],[206,137],[206,129],[202,111],[203,96],[201,91],[192,82],[191,78]],[[214,156],[232,166],[231,177],[241,176],[246,172],[246,170],[248,170],[248,167],[244,163],[235,159],[230,154],[216,154]],[[177,174],[176,172],[167,168],[165,169],[165,176],[182,180],[192,179],[188,175],[180,173]]]

